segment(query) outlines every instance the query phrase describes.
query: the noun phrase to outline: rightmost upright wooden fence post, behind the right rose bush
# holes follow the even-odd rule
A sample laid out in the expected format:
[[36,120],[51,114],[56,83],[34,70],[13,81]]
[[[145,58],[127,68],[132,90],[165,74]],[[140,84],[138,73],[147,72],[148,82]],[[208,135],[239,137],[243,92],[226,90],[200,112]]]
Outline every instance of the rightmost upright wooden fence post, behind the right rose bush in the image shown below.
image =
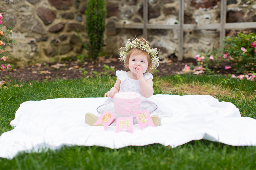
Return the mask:
[[227,17],[227,0],[221,0],[220,8],[220,47],[222,46],[222,40],[225,38],[225,24]]

